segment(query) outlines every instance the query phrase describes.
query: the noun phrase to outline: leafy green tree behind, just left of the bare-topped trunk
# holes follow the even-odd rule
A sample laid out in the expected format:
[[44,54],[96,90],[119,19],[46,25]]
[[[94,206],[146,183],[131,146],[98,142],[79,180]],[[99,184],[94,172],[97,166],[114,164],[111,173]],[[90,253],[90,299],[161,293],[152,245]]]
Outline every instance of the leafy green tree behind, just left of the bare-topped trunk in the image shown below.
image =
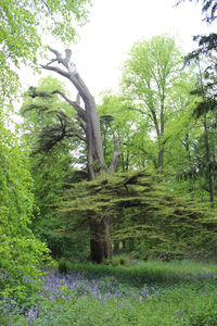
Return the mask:
[[[87,175],[74,167],[78,161],[74,151],[80,146],[74,137],[75,113],[58,95],[50,95],[55,89],[65,91],[58,79],[47,77],[39,82],[37,88],[28,90],[29,96],[34,91],[44,96],[25,99],[21,108],[24,117],[21,129],[31,152],[29,170],[38,208],[34,211],[31,229],[48,243],[53,256],[60,256],[75,254],[80,242],[77,240],[79,235],[67,237],[54,231],[64,227],[58,208],[64,190]],[[84,252],[86,243],[79,249]]]

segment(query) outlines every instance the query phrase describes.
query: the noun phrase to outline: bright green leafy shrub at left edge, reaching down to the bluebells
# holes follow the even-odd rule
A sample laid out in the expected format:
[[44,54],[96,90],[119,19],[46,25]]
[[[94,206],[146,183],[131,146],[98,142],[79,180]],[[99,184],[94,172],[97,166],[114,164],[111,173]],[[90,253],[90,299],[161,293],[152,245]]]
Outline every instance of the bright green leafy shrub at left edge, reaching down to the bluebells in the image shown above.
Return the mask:
[[[33,235],[33,179],[24,143],[0,123],[0,294],[24,299],[37,288],[49,250]],[[25,279],[28,275],[30,283]]]

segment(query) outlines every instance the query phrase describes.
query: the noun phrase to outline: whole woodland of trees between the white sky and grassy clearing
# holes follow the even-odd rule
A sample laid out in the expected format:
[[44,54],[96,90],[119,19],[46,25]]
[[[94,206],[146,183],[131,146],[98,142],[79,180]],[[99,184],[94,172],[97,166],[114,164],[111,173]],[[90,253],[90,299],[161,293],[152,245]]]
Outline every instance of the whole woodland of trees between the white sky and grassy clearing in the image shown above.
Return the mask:
[[[3,297],[34,291],[24,276],[39,279],[51,258],[110,264],[113,253],[127,252],[139,260],[216,260],[217,36],[195,37],[191,53],[169,35],[133,43],[120,91],[105,91],[95,104],[71,52],[48,49],[40,37],[72,41],[72,16],[85,24],[88,3],[0,7]],[[202,1],[209,24],[216,8]],[[22,95],[22,123],[14,124],[22,64],[51,72]],[[74,99],[52,72],[72,83]]]

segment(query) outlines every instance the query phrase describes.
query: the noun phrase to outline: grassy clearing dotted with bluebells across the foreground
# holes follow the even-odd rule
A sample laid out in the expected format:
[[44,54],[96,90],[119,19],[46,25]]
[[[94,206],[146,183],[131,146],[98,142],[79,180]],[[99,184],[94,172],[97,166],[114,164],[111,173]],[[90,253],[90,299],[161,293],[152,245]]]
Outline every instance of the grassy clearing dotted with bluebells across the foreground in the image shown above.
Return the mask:
[[0,324],[217,325],[214,263],[125,264],[67,263],[68,273],[50,273],[26,306],[4,301]]

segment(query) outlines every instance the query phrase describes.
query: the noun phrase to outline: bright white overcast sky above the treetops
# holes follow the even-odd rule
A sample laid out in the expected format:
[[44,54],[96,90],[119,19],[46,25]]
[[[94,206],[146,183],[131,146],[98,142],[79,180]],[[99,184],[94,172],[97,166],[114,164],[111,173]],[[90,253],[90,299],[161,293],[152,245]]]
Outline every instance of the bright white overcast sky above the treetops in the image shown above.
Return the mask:
[[[188,1],[178,8],[175,8],[176,0],[92,2],[90,23],[82,27],[80,39],[71,48],[77,71],[93,96],[106,89],[118,90],[120,66],[135,41],[168,33],[188,52],[196,47],[193,35],[215,32],[214,25],[208,28],[202,22],[201,7]],[[50,46],[62,51],[54,43]],[[27,86],[37,84],[31,75],[22,77],[24,80]]]

